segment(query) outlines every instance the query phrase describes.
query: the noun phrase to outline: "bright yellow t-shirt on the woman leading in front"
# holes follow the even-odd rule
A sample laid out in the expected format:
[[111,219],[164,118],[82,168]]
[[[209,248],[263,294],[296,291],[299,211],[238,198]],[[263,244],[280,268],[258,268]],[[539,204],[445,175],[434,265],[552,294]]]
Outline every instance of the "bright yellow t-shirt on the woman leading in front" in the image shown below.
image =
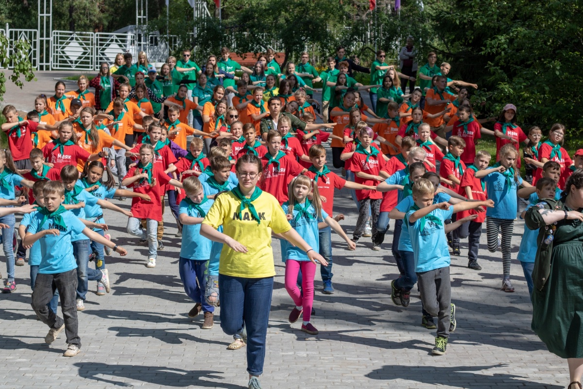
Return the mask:
[[247,247],[247,253],[237,253],[226,244],[220,253],[219,273],[231,277],[265,278],[275,276],[271,232],[284,233],[291,229],[278,200],[262,192],[253,202],[260,222],[252,219],[248,208],[241,212],[241,201],[233,192],[225,192],[215,199],[202,223],[217,229]]

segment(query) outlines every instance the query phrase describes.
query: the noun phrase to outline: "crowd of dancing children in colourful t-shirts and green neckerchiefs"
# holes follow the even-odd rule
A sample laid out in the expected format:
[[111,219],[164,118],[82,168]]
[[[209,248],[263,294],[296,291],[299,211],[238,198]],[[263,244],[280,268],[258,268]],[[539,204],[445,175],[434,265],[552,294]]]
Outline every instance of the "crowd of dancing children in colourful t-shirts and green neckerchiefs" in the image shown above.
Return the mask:
[[[0,226],[8,271],[3,292],[16,289],[14,265],[23,265],[30,250],[33,309],[51,328],[47,343],[66,330],[65,356],[79,352],[76,311],[85,309],[88,282],[97,281],[97,295],[108,293],[105,254],[111,250],[126,254],[106,233],[103,209],[128,217],[127,232],[138,237],[139,243],[147,243],[146,267],[154,268],[157,251],[164,248],[166,195],[182,237],[179,274],[185,292],[195,302],[188,316],[202,311],[202,328],[213,327],[213,312],[220,301],[222,244],[203,237],[200,227],[217,196],[224,191],[237,193],[233,173],[237,159],[244,155],[261,159],[264,173],[259,187],[279,201],[291,227],[311,247],[319,248],[325,260],[321,263],[323,293],[334,293],[331,231],[346,241],[348,250],[362,246],[361,237],[370,236],[371,249],[377,251],[384,243],[389,219],[395,220],[391,251],[399,275],[391,282],[392,301],[408,307],[410,290],[417,283],[422,325],[437,328],[433,353],[441,355],[449,332],[456,327],[448,246],[452,255],[460,255],[460,241],[468,238],[468,268],[480,270],[479,240],[485,221],[488,250],[501,250],[501,289],[514,292],[511,237],[518,198],[532,205],[538,198],[559,197],[568,175],[583,167],[583,150],[575,153],[573,161],[561,146],[562,125],[554,125],[542,143],[542,131],[533,127],[528,136],[524,134],[516,124],[517,108],[508,104],[490,131],[482,127],[463,97],[466,89],[458,96],[445,92],[444,76],[434,76],[433,89],[426,94],[427,110],[419,106],[420,89],[410,96],[382,91],[382,87],[391,90],[394,80],[386,76],[377,86],[379,103],[372,111],[356,90],[371,86],[347,82],[348,67],[340,62],[338,76],[318,76],[335,96],[338,92],[338,99],[329,110],[332,124],[316,124],[322,116],[310,104],[307,91],[311,88],[306,83],[305,88],[294,90],[289,80],[297,83],[301,77],[294,76],[290,64],[286,74],[273,69],[262,78],[255,75],[264,71],[260,60],[260,69],[249,80],[243,76],[236,83],[208,86],[208,79],[226,81],[231,79],[229,71],[238,69],[228,50],[222,54],[218,64],[209,60],[206,65],[213,72],[200,74],[198,66],[188,65],[188,59],[180,64],[169,60],[163,69],[171,72],[164,76],[172,77],[187,66],[181,79],[194,81],[198,74],[198,81],[168,89],[171,96],[158,96],[163,99],[159,117],[154,116],[157,112],[148,98],[159,82],[152,66],[133,73],[135,85],[117,83],[117,90],[106,91],[119,97],[100,98],[100,111],[94,109],[97,101],[87,91],[85,77],[79,79],[75,92],[65,93],[65,85],[58,82],[55,95],[38,96],[26,118],[13,106],[3,109],[6,122],[1,128],[9,145],[9,150],[0,150]],[[329,58],[329,66],[334,64]],[[148,87],[142,86],[142,71],[152,76]],[[189,72],[194,72],[190,78]],[[113,73],[113,79],[120,74],[119,70]],[[279,88],[272,82],[275,76],[281,78]],[[116,85],[109,81],[110,88]],[[99,87],[94,87],[97,92]],[[194,101],[188,100],[189,95]],[[202,125],[197,124],[198,115]],[[331,128],[332,132],[327,131]],[[482,134],[496,136],[492,166],[490,153],[476,147]],[[329,139],[333,166],[342,168],[340,175],[326,166],[328,156],[322,144]],[[524,180],[519,175],[521,142],[525,143]],[[352,239],[339,225],[344,215],[335,215],[333,209],[334,191],[342,188],[352,192],[359,212]],[[130,211],[106,201],[114,197],[131,197]],[[34,207],[23,207],[27,200]],[[18,228],[22,243],[16,259],[12,247],[15,212],[27,213]],[[254,218],[261,222],[261,215]],[[294,304],[289,321],[302,316],[301,330],[318,334],[311,323],[316,265],[282,236],[274,236],[281,239],[285,288]],[[529,291],[535,254],[536,233],[525,233],[518,259]],[[95,269],[89,267],[90,260]],[[58,296],[64,318],[57,316]],[[244,345],[244,334],[236,334],[229,348]]]

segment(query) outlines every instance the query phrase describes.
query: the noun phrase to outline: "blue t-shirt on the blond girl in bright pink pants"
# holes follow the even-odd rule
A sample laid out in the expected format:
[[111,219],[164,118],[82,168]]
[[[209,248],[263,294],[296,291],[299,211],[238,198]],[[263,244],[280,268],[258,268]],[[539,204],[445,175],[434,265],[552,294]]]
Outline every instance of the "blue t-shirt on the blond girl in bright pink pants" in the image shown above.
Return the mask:
[[[282,205],[283,212],[287,215],[287,210],[289,209],[289,204],[287,202]],[[298,234],[306,241],[310,247],[319,247],[319,234],[318,234],[318,222],[323,222],[324,219],[328,218],[328,213],[322,209],[322,219],[318,218],[316,215],[316,210],[314,205],[310,204],[308,206],[308,213],[312,215],[313,219],[308,219],[302,216],[300,220],[296,221],[296,215],[298,211],[294,209],[293,218],[289,221],[291,228],[296,230]],[[286,260],[296,260],[296,261],[310,261],[308,255],[305,254],[304,250],[301,248],[293,246],[289,241],[282,239],[280,240],[282,244],[282,261]]]

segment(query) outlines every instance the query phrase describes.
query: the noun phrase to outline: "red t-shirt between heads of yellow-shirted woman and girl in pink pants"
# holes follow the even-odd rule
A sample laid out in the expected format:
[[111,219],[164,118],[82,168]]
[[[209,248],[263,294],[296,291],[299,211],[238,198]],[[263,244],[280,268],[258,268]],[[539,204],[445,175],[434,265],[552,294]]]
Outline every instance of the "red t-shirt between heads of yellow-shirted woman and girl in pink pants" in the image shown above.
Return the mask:
[[268,165],[269,157],[271,157],[269,153],[261,157],[263,177],[259,183],[259,188],[271,193],[278,199],[279,205],[282,205],[288,199],[287,185],[289,185],[293,177],[301,173],[303,167],[288,155],[279,159],[279,165],[276,163],[270,163]]

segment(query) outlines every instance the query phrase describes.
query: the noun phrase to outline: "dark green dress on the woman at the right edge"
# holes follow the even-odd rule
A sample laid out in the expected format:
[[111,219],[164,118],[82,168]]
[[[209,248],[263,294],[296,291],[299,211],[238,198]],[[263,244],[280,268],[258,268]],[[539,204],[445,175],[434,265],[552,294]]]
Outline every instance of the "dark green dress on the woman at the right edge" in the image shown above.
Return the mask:
[[550,352],[561,358],[583,358],[583,223],[560,220],[552,246],[547,247],[546,227],[552,226],[543,221],[541,208],[570,211],[561,200],[549,199],[526,211],[526,226],[540,228],[532,272],[531,327]]

